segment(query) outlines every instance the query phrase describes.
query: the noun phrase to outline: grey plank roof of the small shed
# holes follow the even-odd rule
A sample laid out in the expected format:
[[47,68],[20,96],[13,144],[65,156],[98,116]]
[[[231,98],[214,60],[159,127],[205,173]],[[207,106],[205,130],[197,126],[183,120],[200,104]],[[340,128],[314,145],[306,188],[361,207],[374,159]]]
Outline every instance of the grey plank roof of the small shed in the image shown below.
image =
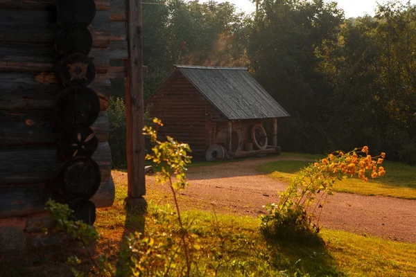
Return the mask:
[[174,66],[229,120],[290,116],[246,67]]

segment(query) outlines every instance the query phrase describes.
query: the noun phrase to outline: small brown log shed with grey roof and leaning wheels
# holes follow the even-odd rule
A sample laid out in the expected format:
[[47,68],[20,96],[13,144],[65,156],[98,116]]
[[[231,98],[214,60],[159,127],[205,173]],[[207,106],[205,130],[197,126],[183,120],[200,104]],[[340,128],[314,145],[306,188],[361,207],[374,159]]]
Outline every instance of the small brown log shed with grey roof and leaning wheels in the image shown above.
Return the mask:
[[279,154],[277,118],[289,116],[245,67],[175,65],[147,104],[164,123],[160,135],[189,143],[194,159],[209,161]]

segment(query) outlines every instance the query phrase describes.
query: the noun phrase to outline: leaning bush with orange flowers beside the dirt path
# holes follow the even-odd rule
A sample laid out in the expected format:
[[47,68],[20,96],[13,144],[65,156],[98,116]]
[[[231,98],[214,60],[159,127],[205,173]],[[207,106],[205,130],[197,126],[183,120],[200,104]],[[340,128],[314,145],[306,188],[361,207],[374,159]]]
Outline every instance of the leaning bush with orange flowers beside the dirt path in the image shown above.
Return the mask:
[[[381,166],[385,153],[372,157],[368,147],[351,152],[333,152],[306,168],[291,180],[286,191],[280,193],[278,204],[265,206],[267,214],[261,217],[261,230],[273,236],[286,238],[313,238],[319,233],[319,220],[328,195],[333,195],[336,181],[358,175],[363,181],[382,177]],[[315,216],[320,209],[318,217]]]

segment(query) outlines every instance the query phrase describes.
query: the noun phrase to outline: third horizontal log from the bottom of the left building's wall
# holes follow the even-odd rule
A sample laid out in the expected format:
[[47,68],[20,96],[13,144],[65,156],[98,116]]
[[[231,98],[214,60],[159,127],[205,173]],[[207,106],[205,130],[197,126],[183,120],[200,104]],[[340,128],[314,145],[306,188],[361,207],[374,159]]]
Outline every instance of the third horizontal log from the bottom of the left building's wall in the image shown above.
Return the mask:
[[[0,111],[0,148],[11,146],[55,145],[60,129],[53,110]],[[92,125],[99,142],[108,140],[109,120],[102,111]]]

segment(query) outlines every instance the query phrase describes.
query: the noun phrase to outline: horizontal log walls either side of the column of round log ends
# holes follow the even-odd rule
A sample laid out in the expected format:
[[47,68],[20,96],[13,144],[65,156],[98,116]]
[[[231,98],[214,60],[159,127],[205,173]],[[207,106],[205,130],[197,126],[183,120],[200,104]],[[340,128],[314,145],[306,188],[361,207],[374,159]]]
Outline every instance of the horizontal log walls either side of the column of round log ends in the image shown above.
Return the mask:
[[[58,159],[55,101],[62,86],[54,71],[53,35],[57,0],[0,0],[0,218],[42,211],[63,161]],[[111,60],[127,59],[123,0],[96,0],[93,37],[97,75],[89,85],[98,93],[101,113],[92,126],[99,141],[93,159],[101,169],[97,207],[111,206],[111,152],[106,113],[112,78],[125,69]],[[114,20],[112,20],[114,19]]]

